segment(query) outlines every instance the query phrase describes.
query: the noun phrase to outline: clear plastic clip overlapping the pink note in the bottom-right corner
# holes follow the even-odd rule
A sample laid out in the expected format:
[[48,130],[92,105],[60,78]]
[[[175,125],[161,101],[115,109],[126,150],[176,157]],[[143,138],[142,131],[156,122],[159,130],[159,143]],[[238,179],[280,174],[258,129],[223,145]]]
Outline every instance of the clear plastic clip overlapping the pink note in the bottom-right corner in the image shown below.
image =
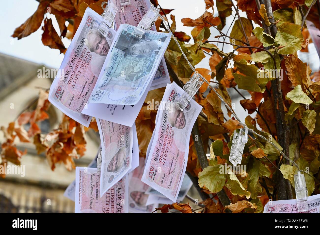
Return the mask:
[[308,190],[304,174],[301,174],[300,171],[298,171],[298,174],[294,175],[294,185],[296,191],[298,212],[307,211]]

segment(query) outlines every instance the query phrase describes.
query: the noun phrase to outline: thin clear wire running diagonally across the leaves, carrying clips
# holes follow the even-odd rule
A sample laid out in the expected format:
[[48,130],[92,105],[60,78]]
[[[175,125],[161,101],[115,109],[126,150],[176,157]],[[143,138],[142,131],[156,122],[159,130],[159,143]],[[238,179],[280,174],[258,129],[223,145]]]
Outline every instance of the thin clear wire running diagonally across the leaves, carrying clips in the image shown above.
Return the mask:
[[[169,33],[171,33],[171,30],[170,30],[169,25],[167,24],[167,21],[164,20],[164,18],[163,18],[163,16],[162,16],[161,14],[159,14],[159,16],[160,16],[162,22],[164,23],[165,28],[168,30]],[[181,51],[183,57],[184,57],[185,60],[188,62],[188,65],[190,66],[190,68],[193,70],[194,73],[197,73],[197,71],[195,70],[195,68],[194,68],[194,67],[192,66],[192,64],[189,62],[189,60],[188,60],[187,56],[185,55],[185,53],[182,51],[182,48],[181,48],[178,40],[175,38],[175,36],[174,36],[173,34],[172,34],[172,38],[173,38],[173,40],[175,41],[175,43],[177,44],[177,46],[178,46],[179,50]],[[217,96],[219,97],[219,99],[224,103],[224,105],[226,106],[226,108],[233,114],[233,116],[237,119],[237,121],[238,121],[239,123],[241,123],[241,125],[244,126],[244,128],[248,128],[247,125],[245,125],[245,124],[240,120],[240,118],[238,118],[238,116],[237,116],[237,115],[235,114],[235,112],[231,109],[231,107],[229,106],[229,104],[224,101],[224,99],[223,99],[223,98],[221,97],[221,95],[216,91],[216,89],[214,89],[214,87],[210,84],[210,82],[208,82],[206,79],[203,79],[203,80],[204,80],[205,83],[207,83],[207,84],[209,85],[209,87],[211,88],[211,90],[213,90],[213,91],[217,94]],[[282,156],[283,156],[285,159],[287,159],[287,160],[290,161],[294,166],[296,166],[296,167],[298,168],[298,171],[304,172],[303,170],[300,170],[300,167],[299,167],[294,161],[292,161],[290,158],[288,158],[288,157],[284,154],[284,152],[283,152],[282,150],[280,150],[273,142],[269,141],[266,137],[264,137],[264,136],[261,135],[261,134],[256,133],[254,130],[252,130],[252,129],[250,129],[250,128],[248,128],[248,131],[251,131],[253,134],[256,134],[256,135],[259,136],[260,138],[262,138],[262,139],[264,139],[265,141],[269,142],[273,147],[275,147],[275,148],[279,151],[279,153],[282,154]]]

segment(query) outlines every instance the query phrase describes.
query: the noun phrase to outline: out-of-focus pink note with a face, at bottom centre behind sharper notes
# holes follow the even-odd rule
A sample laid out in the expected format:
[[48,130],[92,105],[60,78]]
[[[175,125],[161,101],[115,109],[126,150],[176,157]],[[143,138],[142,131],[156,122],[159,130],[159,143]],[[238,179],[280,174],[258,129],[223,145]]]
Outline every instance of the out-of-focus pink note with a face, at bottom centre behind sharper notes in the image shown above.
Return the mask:
[[158,204],[147,204],[149,195],[146,194],[146,190],[149,186],[141,182],[144,161],[145,158],[139,158],[139,166],[128,175],[130,213],[151,213],[158,207]]

